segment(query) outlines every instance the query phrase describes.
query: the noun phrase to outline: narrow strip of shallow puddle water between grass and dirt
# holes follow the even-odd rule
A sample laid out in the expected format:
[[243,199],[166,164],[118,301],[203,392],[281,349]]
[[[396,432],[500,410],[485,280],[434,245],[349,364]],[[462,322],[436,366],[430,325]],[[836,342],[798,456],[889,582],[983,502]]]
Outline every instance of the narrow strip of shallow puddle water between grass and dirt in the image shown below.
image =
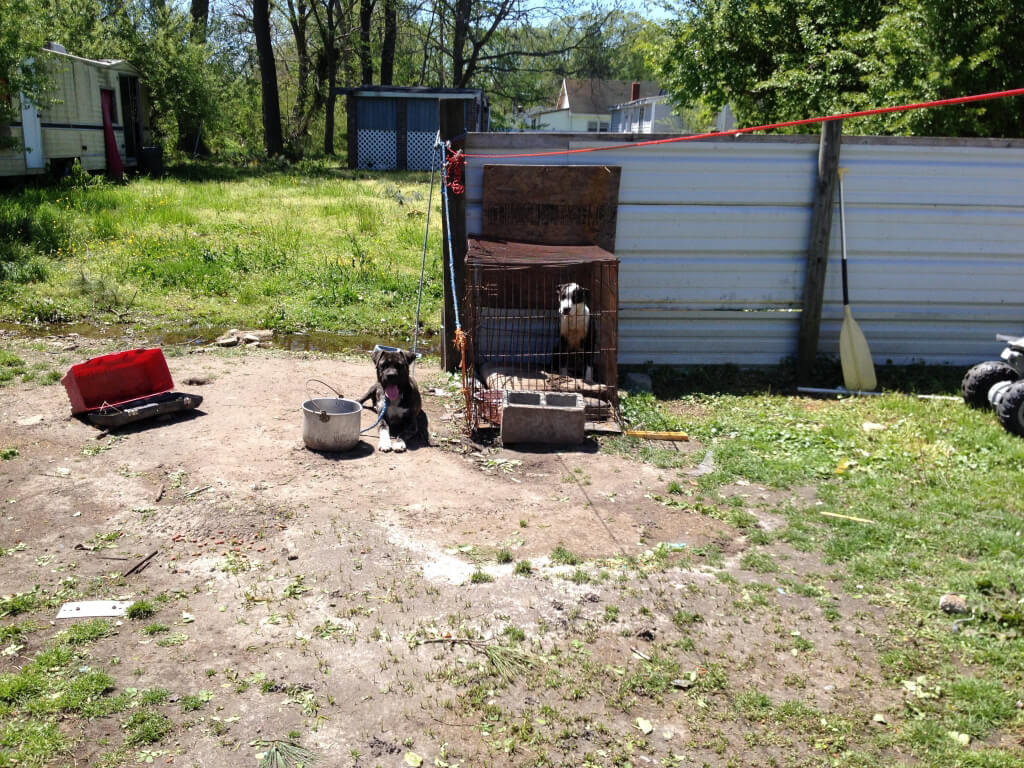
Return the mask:
[[[188,328],[183,331],[150,331],[137,334],[155,344],[209,344],[228,329],[226,328]],[[130,326],[93,326],[87,323],[54,324],[49,326],[17,325],[0,323],[0,331],[12,331],[19,336],[38,339],[47,336],[67,336],[78,334],[87,339],[120,339],[135,335]],[[352,352],[369,351],[376,344],[386,344],[397,347],[411,347],[412,342],[402,338],[370,336],[366,334],[332,333],[330,331],[310,331],[308,333],[275,333],[273,345],[279,349],[292,352]],[[417,351],[424,354],[440,354],[441,340],[437,334],[424,333],[420,335]]]

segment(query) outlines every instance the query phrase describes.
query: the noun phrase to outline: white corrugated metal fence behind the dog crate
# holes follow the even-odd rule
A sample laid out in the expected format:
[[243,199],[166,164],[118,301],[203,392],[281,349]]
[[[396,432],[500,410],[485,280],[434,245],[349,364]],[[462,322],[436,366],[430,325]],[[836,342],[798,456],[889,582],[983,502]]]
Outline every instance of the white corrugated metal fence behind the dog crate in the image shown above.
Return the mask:
[[[467,231],[481,229],[484,164],[621,166],[620,361],[795,356],[817,137],[473,157],[608,145],[580,134],[469,134]],[[1024,335],[1024,141],[845,137],[840,165],[850,303],[876,362],[969,365],[998,356],[996,333]],[[819,341],[830,355],[840,255],[837,211]]]

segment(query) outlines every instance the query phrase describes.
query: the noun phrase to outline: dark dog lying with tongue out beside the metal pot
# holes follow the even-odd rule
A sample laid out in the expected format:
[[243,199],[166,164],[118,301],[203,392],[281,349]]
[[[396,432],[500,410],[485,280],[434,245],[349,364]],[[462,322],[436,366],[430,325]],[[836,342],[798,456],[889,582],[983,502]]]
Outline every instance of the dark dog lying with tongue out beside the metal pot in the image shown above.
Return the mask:
[[406,441],[416,435],[429,445],[430,433],[427,431],[427,415],[423,413],[420,388],[409,373],[416,355],[406,349],[378,348],[374,350],[373,360],[377,381],[359,398],[359,402],[371,400],[374,411],[384,413],[377,450],[401,453],[406,450]]

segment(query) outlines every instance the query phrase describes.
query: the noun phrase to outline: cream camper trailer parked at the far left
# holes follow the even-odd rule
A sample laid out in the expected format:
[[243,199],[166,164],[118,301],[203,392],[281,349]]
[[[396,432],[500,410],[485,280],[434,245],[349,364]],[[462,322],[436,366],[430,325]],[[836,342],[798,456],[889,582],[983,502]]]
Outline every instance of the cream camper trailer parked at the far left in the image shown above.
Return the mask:
[[73,56],[56,43],[40,55],[52,90],[40,109],[12,96],[14,120],[0,131],[18,145],[0,150],[0,176],[60,175],[76,159],[86,170],[114,175],[144,164],[151,135],[138,70],[120,59]]

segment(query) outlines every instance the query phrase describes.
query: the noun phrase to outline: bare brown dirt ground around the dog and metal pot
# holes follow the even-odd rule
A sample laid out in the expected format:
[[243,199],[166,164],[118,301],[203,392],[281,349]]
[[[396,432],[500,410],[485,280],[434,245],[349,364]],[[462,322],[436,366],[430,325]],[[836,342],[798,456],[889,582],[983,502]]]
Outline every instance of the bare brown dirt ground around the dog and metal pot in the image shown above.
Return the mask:
[[[422,366],[433,446],[378,453],[374,430],[351,453],[316,454],[301,440],[306,380],[361,394],[368,360],[168,361],[200,412],[112,435],[71,418],[58,384],[0,389],[0,447],[18,452],[0,465],[0,546],[26,545],[3,558],[0,593],[73,579],[89,598],[160,598],[151,621],[179,644],[125,620],[93,649],[119,686],[171,691],[177,728],[158,763],[251,767],[258,739],[298,731],[329,766],[410,753],[440,766],[826,765],[887,706],[872,645],[884,618],[866,601],[783,544],[767,550],[776,572],[743,567],[752,531],[813,492],[740,483],[697,505],[694,443],[681,470],[595,439],[481,449]],[[670,482],[684,494],[666,496]],[[713,508],[758,522],[733,527]],[[553,561],[558,546],[581,562]],[[523,560],[530,572],[515,572]],[[47,624],[0,671],[66,626]],[[514,671],[503,677],[488,648],[515,649]],[[174,707],[204,690],[204,709]],[[792,721],[759,718],[760,694],[792,702]],[[62,727],[77,765],[121,739],[116,716]]]

